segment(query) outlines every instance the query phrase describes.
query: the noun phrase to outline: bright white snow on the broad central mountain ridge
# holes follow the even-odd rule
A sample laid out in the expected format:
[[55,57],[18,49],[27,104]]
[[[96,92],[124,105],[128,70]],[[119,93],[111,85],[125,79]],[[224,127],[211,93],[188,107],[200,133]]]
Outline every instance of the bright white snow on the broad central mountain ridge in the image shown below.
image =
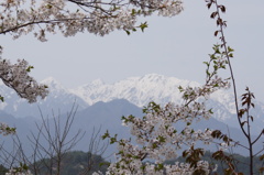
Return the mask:
[[199,86],[198,83],[180,80],[175,77],[166,77],[157,74],[148,74],[143,77],[130,77],[118,83],[107,85],[101,80],[95,80],[85,86],[72,89],[89,105],[98,101],[110,101],[123,98],[132,103],[143,107],[150,101],[166,103],[179,102],[178,86]]

